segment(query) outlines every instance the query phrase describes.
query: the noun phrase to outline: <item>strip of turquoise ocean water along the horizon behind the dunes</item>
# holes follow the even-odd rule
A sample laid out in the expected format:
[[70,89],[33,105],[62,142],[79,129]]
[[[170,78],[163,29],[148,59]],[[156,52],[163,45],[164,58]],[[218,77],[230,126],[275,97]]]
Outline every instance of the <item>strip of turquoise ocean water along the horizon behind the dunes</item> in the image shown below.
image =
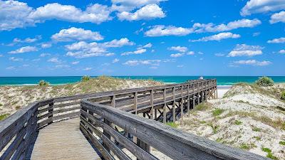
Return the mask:
[[[161,82],[185,82],[186,80],[195,80],[199,76],[114,76],[115,78],[139,79],[139,80],[158,80]],[[95,77],[94,77],[95,78]],[[237,82],[252,83],[259,76],[204,76],[204,78],[217,79],[217,85],[234,85]],[[285,76],[272,76],[274,82],[285,82]],[[66,83],[78,82],[80,76],[66,77],[0,77],[0,85],[36,85],[38,81],[46,80],[51,85],[62,85]]]

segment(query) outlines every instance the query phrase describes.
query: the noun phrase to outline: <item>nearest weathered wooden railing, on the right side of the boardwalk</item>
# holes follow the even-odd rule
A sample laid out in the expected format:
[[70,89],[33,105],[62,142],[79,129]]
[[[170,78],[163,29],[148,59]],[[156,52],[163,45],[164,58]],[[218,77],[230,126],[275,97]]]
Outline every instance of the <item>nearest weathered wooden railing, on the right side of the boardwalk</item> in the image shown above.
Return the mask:
[[81,106],[81,129],[105,159],[267,159],[114,107],[88,100]]

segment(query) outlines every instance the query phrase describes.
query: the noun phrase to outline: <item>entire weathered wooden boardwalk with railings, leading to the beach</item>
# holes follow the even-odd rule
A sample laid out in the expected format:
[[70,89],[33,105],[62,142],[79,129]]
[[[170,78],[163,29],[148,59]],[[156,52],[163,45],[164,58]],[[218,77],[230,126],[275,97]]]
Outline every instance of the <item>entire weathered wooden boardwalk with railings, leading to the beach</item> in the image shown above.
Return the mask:
[[0,159],[266,159],[165,125],[213,98],[190,80],[34,102],[0,122]]

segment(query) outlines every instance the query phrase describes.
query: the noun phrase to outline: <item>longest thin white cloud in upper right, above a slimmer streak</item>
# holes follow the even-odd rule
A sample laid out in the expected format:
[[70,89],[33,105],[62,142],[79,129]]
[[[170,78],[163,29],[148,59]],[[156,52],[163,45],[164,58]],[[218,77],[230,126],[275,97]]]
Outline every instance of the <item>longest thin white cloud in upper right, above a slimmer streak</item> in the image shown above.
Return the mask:
[[202,33],[202,32],[223,32],[223,31],[231,31],[233,29],[237,28],[253,28],[257,25],[261,24],[261,21],[259,21],[257,18],[254,19],[239,19],[237,21],[231,21],[227,24],[219,24],[214,25],[214,23],[194,23],[192,26],[193,30],[195,30],[196,33]]

